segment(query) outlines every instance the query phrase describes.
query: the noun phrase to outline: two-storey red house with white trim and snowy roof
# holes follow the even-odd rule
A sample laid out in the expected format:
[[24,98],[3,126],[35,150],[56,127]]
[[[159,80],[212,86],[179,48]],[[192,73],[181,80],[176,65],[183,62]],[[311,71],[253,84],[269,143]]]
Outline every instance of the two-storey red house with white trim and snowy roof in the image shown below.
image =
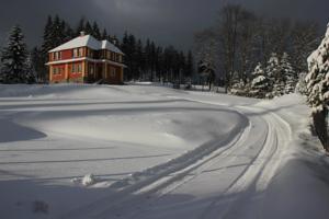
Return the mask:
[[124,54],[109,41],[91,35],[73,38],[48,51],[49,82],[123,83]]

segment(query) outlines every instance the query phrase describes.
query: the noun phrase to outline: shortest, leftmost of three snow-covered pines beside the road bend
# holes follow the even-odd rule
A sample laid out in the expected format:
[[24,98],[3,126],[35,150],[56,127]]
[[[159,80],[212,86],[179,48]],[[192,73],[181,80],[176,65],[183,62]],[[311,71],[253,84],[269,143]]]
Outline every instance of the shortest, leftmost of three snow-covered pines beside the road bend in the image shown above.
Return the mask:
[[258,99],[265,97],[269,92],[270,79],[261,64],[256,67],[251,76],[253,79],[251,81],[250,94]]

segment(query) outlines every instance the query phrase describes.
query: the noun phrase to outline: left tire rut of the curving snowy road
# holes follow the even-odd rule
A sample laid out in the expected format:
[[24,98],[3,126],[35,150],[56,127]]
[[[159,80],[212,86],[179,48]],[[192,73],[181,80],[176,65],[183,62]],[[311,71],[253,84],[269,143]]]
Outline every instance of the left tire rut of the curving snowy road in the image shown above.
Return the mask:
[[[191,171],[215,157],[226,153],[237,145],[236,142],[240,140],[243,134],[246,135],[246,131],[249,130],[248,127],[250,128],[250,123],[243,114],[234,110],[231,112],[241,117],[241,124],[236,126],[225,139],[220,139],[219,141],[218,139],[212,140],[168,163],[135,173],[124,180],[123,183],[120,182],[111,186],[110,189],[117,187],[121,189],[110,197],[102,198],[88,206],[79,207],[64,215],[61,218],[107,218],[107,214],[113,212],[113,209],[117,206],[133,203],[135,199],[138,200],[140,196],[146,197],[149,194],[154,194],[173,182],[183,178]],[[128,194],[135,194],[135,196],[131,197]],[[115,204],[112,200],[115,200]]]

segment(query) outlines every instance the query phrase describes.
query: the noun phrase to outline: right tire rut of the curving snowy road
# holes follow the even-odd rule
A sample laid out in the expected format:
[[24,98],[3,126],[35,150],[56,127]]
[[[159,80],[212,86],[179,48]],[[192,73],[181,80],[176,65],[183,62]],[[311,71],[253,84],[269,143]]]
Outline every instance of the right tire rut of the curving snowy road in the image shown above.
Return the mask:
[[[263,208],[261,208],[261,200],[258,200],[256,205],[251,205],[251,210],[248,209],[248,205],[254,201],[252,198],[254,198],[257,194],[265,192],[281,164],[280,157],[282,157],[282,152],[292,136],[290,125],[275,113],[270,112],[269,115],[263,116],[263,118],[269,127],[268,132],[270,136],[268,140],[263,145],[260,153],[254,158],[253,163],[248,166],[248,170],[243,172],[242,176],[237,178],[238,182],[223,194],[223,196],[229,194],[239,195],[232,198],[225,210],[222,211],[216,208],[216,204],[222,199],[218,197],[217,200],[212,203],[211,206],[204,210],[204,215],[201,216],[201,219],[213,218],[214,216],[220,219],[249,218],[248,214],[252,215],[250,218],[262,218],[261,209]],[[284,127],[282,127],[282,125]],[[261,197],[263,196],[262,194]]]

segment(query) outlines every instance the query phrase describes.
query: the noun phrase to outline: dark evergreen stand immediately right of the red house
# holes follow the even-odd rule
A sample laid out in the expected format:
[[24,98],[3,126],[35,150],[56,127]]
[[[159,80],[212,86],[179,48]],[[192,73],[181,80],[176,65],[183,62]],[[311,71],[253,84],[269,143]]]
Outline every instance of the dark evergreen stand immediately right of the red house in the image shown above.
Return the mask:
[[161,47],[150,39],[143,43],[133,34],[124,34],[121,49],[128,68],[125,80],[184,82],[193,73],[192,51],[184,54],[173,46]]

